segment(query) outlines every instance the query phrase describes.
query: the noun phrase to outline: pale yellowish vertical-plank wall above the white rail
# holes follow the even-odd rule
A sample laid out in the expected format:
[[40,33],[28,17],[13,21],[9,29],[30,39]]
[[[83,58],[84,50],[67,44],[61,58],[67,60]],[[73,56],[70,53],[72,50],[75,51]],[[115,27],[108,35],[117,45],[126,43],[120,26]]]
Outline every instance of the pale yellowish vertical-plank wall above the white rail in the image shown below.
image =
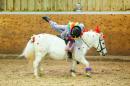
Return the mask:
[[1,11],[73,11],[80,3],[83,11],[127,11],[130,0],[0,0]]

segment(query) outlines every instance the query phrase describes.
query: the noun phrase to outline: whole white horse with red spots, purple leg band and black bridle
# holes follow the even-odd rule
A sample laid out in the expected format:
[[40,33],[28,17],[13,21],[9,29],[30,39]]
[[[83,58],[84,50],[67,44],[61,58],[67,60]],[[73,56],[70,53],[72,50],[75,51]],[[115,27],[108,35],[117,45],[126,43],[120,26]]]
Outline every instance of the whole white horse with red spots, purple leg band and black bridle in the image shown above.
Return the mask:
[[[31,37],[21,56],[24,56],[27,59],[34,58],[32,60],[34,75],[39,77],[38,72],[41,60],[46,55],[57,60],[67,59],[68,56],[65,47],[66,44],[64,40],[55,35],[46,33],[38,34]],[[96,48],[100,55],[105,55],[107,53],[102,34],[95,31],[84,32],[82,37],[75,41],[75,47],[72,52],[72,76],[76,76],[75,67],[77,61],[86,66],[86,74],[87,76],[90,75],[91,67],[86,60],[85,55],[91,47]]]

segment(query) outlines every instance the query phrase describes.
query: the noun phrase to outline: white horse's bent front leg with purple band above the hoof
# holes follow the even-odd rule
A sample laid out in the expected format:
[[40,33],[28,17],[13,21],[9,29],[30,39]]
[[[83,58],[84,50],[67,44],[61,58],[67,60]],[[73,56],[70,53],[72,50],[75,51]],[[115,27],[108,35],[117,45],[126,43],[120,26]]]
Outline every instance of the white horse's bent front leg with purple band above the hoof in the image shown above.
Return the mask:
[[91,67],[89,66],[89,62],[85,59],[85,57],[82,57],[82,58],[80,59],[80,62],[86,66],[86,68],[85,68],[86,75],[87,75],[88,77],[90,77],[90,75],[91,75],[91,70],[92,70],[92,69],[91,69]]

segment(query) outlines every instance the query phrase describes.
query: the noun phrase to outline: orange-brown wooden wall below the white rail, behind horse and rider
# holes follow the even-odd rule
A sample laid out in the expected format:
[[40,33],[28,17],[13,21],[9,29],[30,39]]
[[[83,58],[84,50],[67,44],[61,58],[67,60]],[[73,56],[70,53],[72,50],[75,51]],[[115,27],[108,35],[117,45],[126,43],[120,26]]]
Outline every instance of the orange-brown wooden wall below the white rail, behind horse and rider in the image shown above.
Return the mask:
[[[42,20],[43,15],[0,15],[0,53],[21,53],[33,34],[58,34]],[[91,15],[91,14],[50,14],[52,20],[59,24],[69,21],[83,22],[88,29],[97,25],[105,34],[108,55],[130,55],[130,15]],[[97,55],[95,49],[89,55]]]

